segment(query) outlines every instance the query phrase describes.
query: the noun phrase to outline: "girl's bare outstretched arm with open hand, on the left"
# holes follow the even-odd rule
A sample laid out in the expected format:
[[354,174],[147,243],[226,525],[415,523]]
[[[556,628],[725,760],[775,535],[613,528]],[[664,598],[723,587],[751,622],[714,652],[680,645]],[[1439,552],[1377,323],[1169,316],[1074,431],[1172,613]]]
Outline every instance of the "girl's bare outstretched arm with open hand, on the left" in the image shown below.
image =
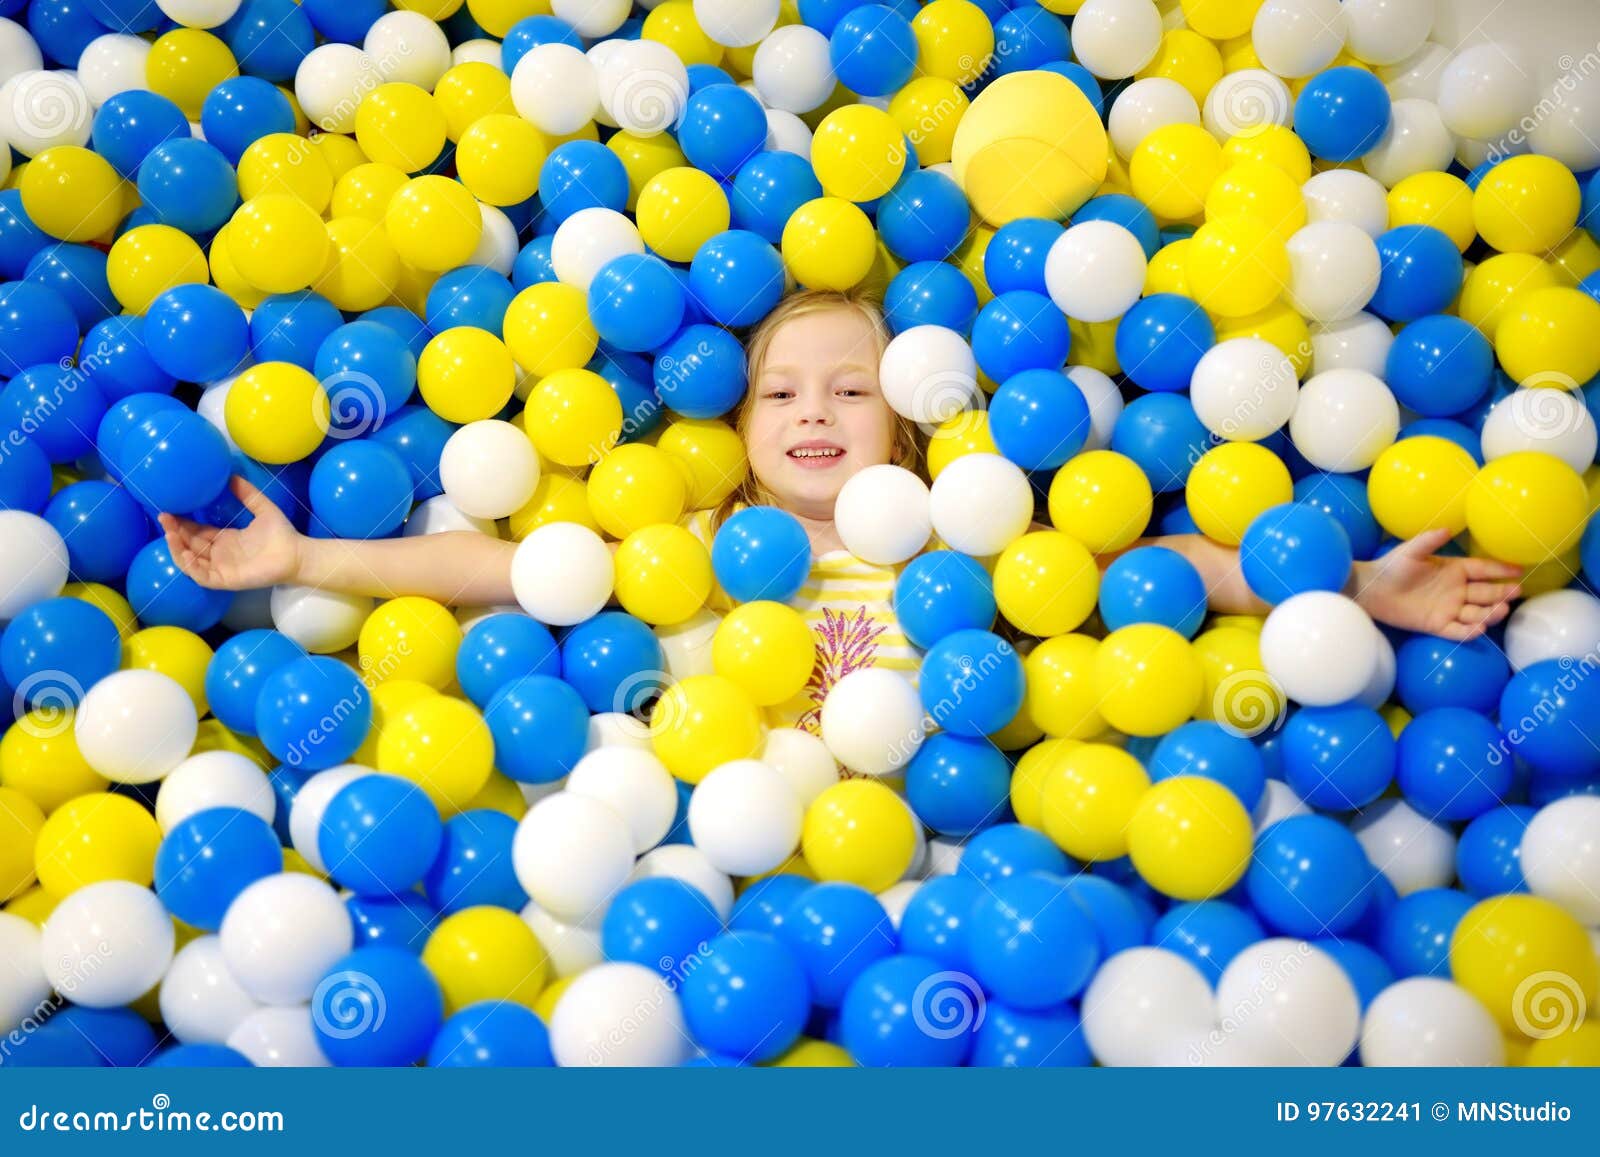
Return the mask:
[[288,583],[378,599],[421,595],[454,607],[515,602],[515,542],[475,531],[376,541],[309,538],[245,478],[230,485],[251,514],[243,530],[160,515],[173,562],[200,586],[248,591]]

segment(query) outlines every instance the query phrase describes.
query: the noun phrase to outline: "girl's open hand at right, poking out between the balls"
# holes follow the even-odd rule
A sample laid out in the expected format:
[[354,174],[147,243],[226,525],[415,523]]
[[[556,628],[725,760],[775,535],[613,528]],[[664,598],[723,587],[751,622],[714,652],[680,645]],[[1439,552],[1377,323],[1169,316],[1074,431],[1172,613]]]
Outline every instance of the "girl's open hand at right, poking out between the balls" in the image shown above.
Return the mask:
[[1355,563],[1352,597],[1379,623],[1466,642],[1510,613],[1522,566],[1435,554],[1453,534],[1429,530],[1382,558]]

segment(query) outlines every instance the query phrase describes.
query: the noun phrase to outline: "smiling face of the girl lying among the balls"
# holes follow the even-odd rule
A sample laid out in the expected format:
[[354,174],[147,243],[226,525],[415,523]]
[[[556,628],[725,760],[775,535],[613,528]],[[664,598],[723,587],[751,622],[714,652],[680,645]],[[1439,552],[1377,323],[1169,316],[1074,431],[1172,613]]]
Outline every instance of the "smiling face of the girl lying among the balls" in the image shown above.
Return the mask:
[[834,517],[845,482],[888,462],[894,411],[878,387],[878,336],[853,309],[784,323],[750,382],[750,470],[790,514]]

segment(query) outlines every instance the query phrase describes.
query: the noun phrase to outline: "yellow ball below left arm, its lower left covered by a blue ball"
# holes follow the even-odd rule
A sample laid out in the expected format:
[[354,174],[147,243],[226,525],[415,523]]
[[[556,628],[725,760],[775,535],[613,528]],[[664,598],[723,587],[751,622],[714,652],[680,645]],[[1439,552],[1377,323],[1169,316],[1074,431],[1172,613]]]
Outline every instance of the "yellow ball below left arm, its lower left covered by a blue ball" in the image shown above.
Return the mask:
[[494,739],[483,715],[464,699],[418,699],[378,735],[378,770],[410,779],[442,815],[467,807],[494,770]]

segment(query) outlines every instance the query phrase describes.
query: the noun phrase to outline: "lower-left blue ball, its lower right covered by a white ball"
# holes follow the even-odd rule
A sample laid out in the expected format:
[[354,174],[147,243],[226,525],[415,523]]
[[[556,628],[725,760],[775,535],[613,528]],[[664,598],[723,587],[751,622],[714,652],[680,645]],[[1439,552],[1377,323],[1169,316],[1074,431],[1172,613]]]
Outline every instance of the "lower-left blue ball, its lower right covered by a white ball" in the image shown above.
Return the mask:
[[155,895],[184,923],[216,931],[238,893],[282,871],[283,845],[272,824],[240,808],[206,808],[162,840]]

